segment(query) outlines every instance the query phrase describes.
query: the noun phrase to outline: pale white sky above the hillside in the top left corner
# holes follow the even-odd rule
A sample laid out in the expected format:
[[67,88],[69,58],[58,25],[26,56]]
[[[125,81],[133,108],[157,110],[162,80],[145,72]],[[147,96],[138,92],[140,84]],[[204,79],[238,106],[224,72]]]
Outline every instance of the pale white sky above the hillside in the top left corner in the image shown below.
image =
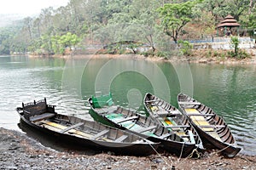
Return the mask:
[[1,0],[0,14],[40,14],[41,9],[66,6],[69,0]]

